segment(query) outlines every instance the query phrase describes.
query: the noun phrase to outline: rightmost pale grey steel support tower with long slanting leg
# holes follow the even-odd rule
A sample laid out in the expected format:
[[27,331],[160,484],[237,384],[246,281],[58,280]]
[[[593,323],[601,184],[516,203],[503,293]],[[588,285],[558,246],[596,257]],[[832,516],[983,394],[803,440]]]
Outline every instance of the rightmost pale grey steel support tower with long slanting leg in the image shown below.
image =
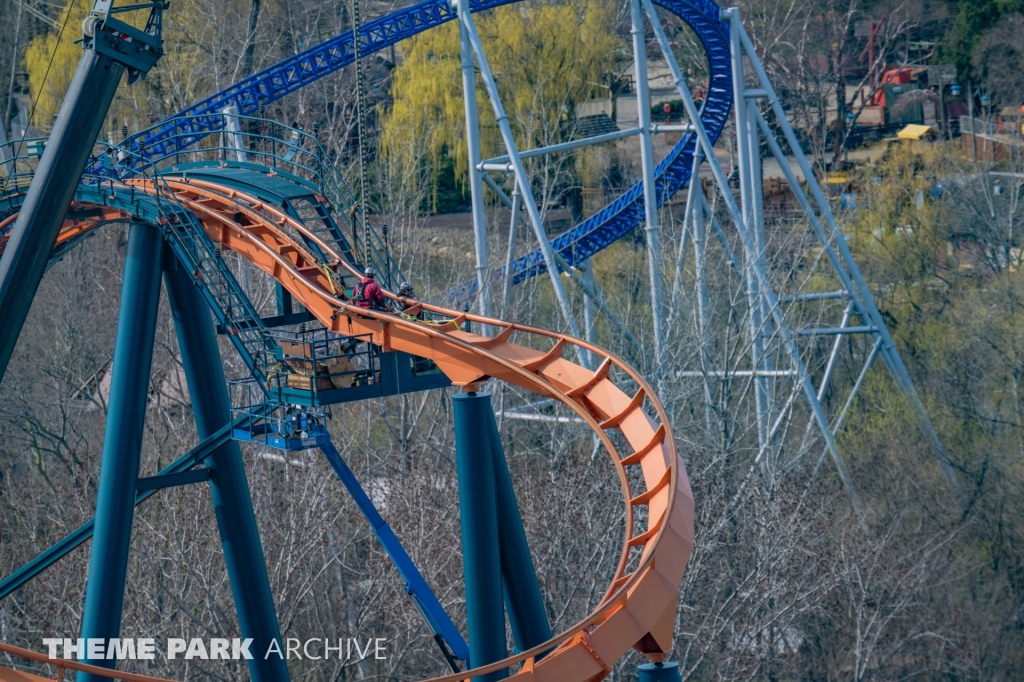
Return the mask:
[[[836,444],[836,433],[843,425],[857,391],[863,385],[868,369],[876,358],[881,357],[913,412],[922,433],[930,442],[949,486],[961,505],[966,506],[967,498],[961,487],[954,467],[928,417],[924,403],[910,380],[892,337],[889,335],[867,284],[854,261],[846,239],[839,229],[831,206],[801,151],[793,128],[779,103],[778,96],[750,37],[743,30],[739,10],[731,8],[722,12],[723,20],[729,22],[732,52],[736,166],[739,184],[739,203],[737,205],[722,166],[714,154],[693,97],[654,7],[650,0],[639,1],[643,3],[650,29],[672,72],[673,80],[689,118],[689,126],[692,126],[697,136],[694,173],[684,213],[684,230],[687,230],[685,236],[687,239],[683,240],[680,249],[677,275],[682,266],[682,260],[685,258],[686,242],[692,241],[695,259],[698,333],[707,334],[707,308],[709,305],[707,232],[710,224],[711,231],[723,247],[726,259],[737,270],[737,274],[744,283],[749,308],[746,324],[750,330],[751,369],[726,372],[721,368],[714,368],[710,365],[707,352],[701,348],[699,370],[683,372],[682,376],[703,379],[707,400],[711,399],[710,378],[722,380],[723,378],[742,377],[753,383],[759,443],[756,461],[761,467],[762,473],[767,477],[771,476],[768,466],[769,455],[778,446],[779,433],[787,425],[787,420],[793,414],[795,400],[802,394],[812,416],[805,432],[805,442],[810,430],[816,425],[825,443],[822,457],[825,455],[831,457],[854,506],[859,507],[860,503],[853,480]],[[748,63],[753,71],[752,80],[756,83],[756,87],[753,88],[746,86],[744,67]],[[778,140],[765,120],[762,105],[772,112],[774,123],[777,129],[781,130],[787,146],[793,151],[793,159],[806,179],[808,191],[804,190],[804,185],[798,181],[791,168],[791,161],[782,154]],[[824,261],[830,266],[830,273],[839,281],[840,289],[838,291],[796,294],[780,298],[774,290],[769,279],[769,267],[766,260],[767,243],[760,151],[762,142],[767,144],[770,154],[778,162],[778,166],[800,205],[803,216],[811,227],[816,246],[820,248]],[[727,236],[722,226],[718,224],[715,213],[711,210],[700,186],[699,174],[696,172],[696,169],[699,168],[699,162],[696,160],[707,162],[711,168],[712,177],[731,219],[731,226],[739,237],[739,243],[742,246],[739,254],[733,253]],[[787,318],[794,316],[793,313],[797,306],[825,300],[846,302],[838,323],[829,325],[818,322],[809,327],[791,329]],[[843,347],[843,339],[850,335],[866,337],[866,350],[860,372],[847,393],[842,409],[835,418],[830,419],[822,407],[822,400],[829,388],[838,390],[838,386],[834,382],[837,360]],[[815,387],[804,359],[806,353],[801,351],[796,340],[799,338],[813,342],[828,336],[835,336],[835,340],[830,344],[827,359],[823,365],[818,385]],[[701,338],[706,339],[703,336]],[[706,346],[707,344],[702,343],[701,345]],[[785,390],[786,384],[791,387],[790,390]],[[820,461],[818,467],[820,467]],[[818,467],[815,468],[815,471]]]

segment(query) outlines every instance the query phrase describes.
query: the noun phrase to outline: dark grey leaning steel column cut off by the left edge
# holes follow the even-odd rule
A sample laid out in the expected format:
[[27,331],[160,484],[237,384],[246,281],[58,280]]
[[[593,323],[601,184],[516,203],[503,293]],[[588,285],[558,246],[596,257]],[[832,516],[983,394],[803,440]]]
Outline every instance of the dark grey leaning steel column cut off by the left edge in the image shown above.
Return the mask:
[[0,258],[0,379],[123,72],[110,57],[86,50],[65,95]]

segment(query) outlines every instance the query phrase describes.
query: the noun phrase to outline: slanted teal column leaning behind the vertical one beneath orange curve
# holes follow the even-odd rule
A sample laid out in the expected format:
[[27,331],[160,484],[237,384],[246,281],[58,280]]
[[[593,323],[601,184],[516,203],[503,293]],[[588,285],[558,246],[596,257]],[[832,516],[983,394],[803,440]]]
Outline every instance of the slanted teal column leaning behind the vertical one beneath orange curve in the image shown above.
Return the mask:
[[488,411],[483,417],[487,422],[495,474],[505,606],[516,648],[525,651],[551,639],[551,625],[544,608],[541,586],[537,582],[534,559],[529,555],[526,531],[522,527],[522,516],[512,487],[508,463],[505,461],[505,450],[498,434],[498,424],[493,412]]

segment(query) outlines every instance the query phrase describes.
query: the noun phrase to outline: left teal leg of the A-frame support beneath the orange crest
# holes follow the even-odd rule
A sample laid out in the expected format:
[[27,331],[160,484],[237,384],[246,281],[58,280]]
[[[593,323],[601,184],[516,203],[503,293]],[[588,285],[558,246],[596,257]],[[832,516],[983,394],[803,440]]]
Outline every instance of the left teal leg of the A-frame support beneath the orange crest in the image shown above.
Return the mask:
[[[121,613],[135,512],[139,451],[153,364],[160,304],[160,255],[164,238],[144,223],[132,223],[121,286],[121,312],[111,369],[111,399],[103,457],[96,491],[96,522],[89,555],[89,579],[82,637],[121,636]],[[83,652],[84,653],[84,652]],[[114,668],[114,659],[83,660]],[[79,673],[79,682],[102,678]]]

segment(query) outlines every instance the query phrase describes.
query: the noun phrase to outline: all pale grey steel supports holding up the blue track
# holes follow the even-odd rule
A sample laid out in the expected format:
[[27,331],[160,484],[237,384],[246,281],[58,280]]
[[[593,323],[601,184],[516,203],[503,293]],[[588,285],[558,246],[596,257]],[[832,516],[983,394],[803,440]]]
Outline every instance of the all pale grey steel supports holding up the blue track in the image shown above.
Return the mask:
[[[731,60],[733,71],[733,102],[734,123],[738,170],[738,202],[715,156],[707,130],[701,123],[699,113],[693,97],[683,78],[682,71],[673,53],[672,46],[666,36],[662,23],[654,10],[651,0],[629,0],[631,18],[631,37],[634,52],[634,72],[636,79],[638,127],[613,133],[596,135],[586,139],[571,140],[519,152],[512,137],[511,128],[505,115],[505,110],[498,94],[498,87],[490,73],[483,47],[480,43],[473,17],[468,11],[468,0],[454,0],[459,14],[461,55],[463,67],[464,96],[466,98],[466,123],[470,151],[470,186],[473,197],[473,226],[476,239],[476,270],[479,289],[479,307],[488,312],[495,307],[490,301],[490,292],[486,276],[489,271],[486,246],[486,225],[483,211],[482,187],[486,185],[499,199],[512,208],[511,224],[509,226],[509,245],[506,254],[506,271],[514,255],[514,236],[519,221],[527,222],[534,229],[542,253],[548,274],[554,288],[555,296],[562,311],[565,325],[571,334],[580,336],[580,328],[572,314],[572,308],[558,276],[559,270],[565,271],[584,293],[584,311],[586,317],[585,333],[592,338],[595,329],[595,317],[600,310],[620,330],[625,330],[614,313],[604,302],[597,283],[590,271],[589,263],[581,267],[569,266],[552,248],[541,222],[537,200],[530,188],[529,179],[523,165],[523,159],[545,154],[554,154],[578,148],[587,144],[608,142],[630,136],[640,138],[640,157],[644,179],[644,236],[647,245],[651,306],[653,318],[654,348],[651,367],[655,377],[660,376],[659,368],[664,361],[664,345],[667,329],[671,328],[672,319],[679,312],[665,305],[663,286],[662,247],[659,241],[660,226],[656,208],[652,135],[664,132],[690,132],[695,134],[697,148],[694,154],[694,170],[691,176],[690,190],[686,200],[684,212],[683,235],[679,251],[675,257],[675,276],[671,299],[676,303],[679,298],[679,286],[682,282],[681,272],[687,259],[687,247],[693,244],[694,272],[696,286],[696,323],[700,338],[703,340],[699,352],[699,367],[678,373],[677,378],[701,380],[705,401],[707,403],[706,420],[712,423],[711,402],[712,385],[722,381],[742,379],[753,387],[754,402],[757,416],[758,453],[756,465],[762,475],[770,480],[773,476],[772,459],[777,457],[781,444],[780,434],[790,426],[795,403],[801,398],[810,413],[804,433],[804,443],[807,442],[815,427],[824,441],[822,458],[828,456],[835,463],[843,484],[846,486],[855,508],[860,508],[860,502],[853,479],[848,471],[838,445],[836,433],[843,425],[850,407],[864,382],[868,369],[881,357],[892,375],[897,387],[906,398],[914,414],[918,425],[930,442],[935,457],[946,476],[950,487],[962,505],[967,499],[956,478],[956,473],[942,443],[925,411],[924,403],[918,394],[906,367],[896,349],[895,344],[878,306],[871,297],[853,255],[840,231],[831,206],[818,185],[815,174],[806,157],[801,151],[797,137],[791,127],[785,113],[779,103],[764,67],[740,22],[739,10],[731,8],[722,12],[722,19],[729,22],[729,37],[731,45]],[[645,26],[644,14],[647,23]],[[682,98],[688,122],[682,125],[656,125],[650,120],[650,101],[647,88],[646,31],[653,35],[660,47],[665,60],[671,71],[673,81]],[[505,144],[506,156],[483,160],[480,158],[479,127],[475,108],[475,74],[473,61],[479,72],[487,96],[494,106],[499,129]],[[756,87],[748,87],[744,70],[750,65],[750,78]],[[769,128],[765,113],[771,111],[777,129],[781,131],[786,145],[793,151],[793,159],[806,179],[807,191],[791,168],[791,160],[781,151],[774,133]],[[772,285],[770,267],[767,262],[768,243],[765,233],[765,210],[762,180],[762,144],[766,144],[772,157],[778,162],[793,195],[801,208],[803,217],[811,227],[816,247],[821,250],[822,259],[830,268],[830,273],[838,281],[838,289],[821,293],[797,293],[779,296]],[[711,169],[714,187],[725,207],[728,216],[726,223],[721,224],[716,211],[711,207],[708,197],[701,187],[698,170],[702,164]],[[515,177],[512,199],[502,190],[488,172],[512,173]],[[809,195],[809,196],[808,196]],[[520,212],[523,215],[520,215]],[[731,228],[727,231],[726,228]],[[732,239],[738,243],[738,251],[733,249]],[[711,299],[709,294],[708,254],[710,241],[714,240],[725,255],[728,265],[742,281],[746,301],[746,316],[744,319],[746,347],[750,356],[749,369],[724,369],[714,366],[711,353],[708,351],[711,334],[710,317]],[[498,307],[506,312],[510,281],[506,278],[501,292],[501,303]],[[790,318],[801,305],[813,305],[822,301],[845,302],[840,319],[828,324],[817,321],[810,326],[798,329],[791,328]],[[663,314],[664,313],[664,314]],[[666,323],[666,321],[668,321]],[[626,331],[630,343],[641,353],[647,351]],[[838,358],[843,348],[843,339],[851,335],[866,337],[862,366],[853,386],[846,394],[842,409],[838,415],[830,418],[822,407],[823,399],[829,388],[835,392],[836,369]],[[827,351],[827,359],[823,363],[817,385],[812,372],[807,367],[808,344],[813,344],[823,338],[835,337]],[[798,345],[798,340],[800,344]],[[590,364],[593,358],[582,357],[582,361]],[[817,374],[817,372],[813,373]],[[803,447],[801,447],[801,451]],[[819,460],[815,472],[820,467]]]

